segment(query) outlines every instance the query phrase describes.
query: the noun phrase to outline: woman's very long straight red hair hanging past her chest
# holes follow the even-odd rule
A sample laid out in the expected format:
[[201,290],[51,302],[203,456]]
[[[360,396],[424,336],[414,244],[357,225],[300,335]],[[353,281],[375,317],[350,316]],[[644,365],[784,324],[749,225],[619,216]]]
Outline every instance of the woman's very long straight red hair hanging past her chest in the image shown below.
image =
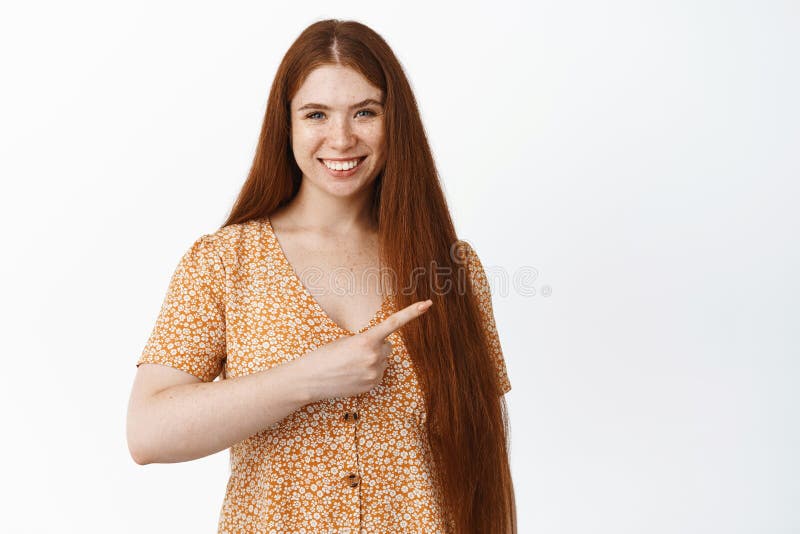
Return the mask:
[[[382,280],[403,287],[384,289],[396,296],[397,309],[434,301],[424,320],[411,321],[401,335],[423,389],[448,522],[457,533],[516,533],[507,407],[477,296],[471,285],[467,291],[437,289],[442,272],[454,273],[450,287],[458,287],[457,277],[460,287],[470,278],[459,274],[465,262],[453,254],[458,238],[411,86],[375,31],[323,20],[291,45],[272,83],[253,165],[223,227],[268,216],[297,193],[302,173],[290,145],[289,103],[312,70],[329,64],[351,67],[383,91],[387,159],[374,182],[371,213],[382,263],[401,275]],[[436,273],[426,269],[431,265]],[[402,279],[411,273],[413,285]]]

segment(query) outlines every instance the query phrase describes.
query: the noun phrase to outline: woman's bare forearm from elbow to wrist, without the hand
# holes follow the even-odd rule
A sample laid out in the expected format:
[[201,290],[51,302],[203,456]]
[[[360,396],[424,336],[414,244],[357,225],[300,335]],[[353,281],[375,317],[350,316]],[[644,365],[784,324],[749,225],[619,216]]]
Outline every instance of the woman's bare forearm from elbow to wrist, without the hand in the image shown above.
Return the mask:
[[217,382],[172,386],[132,421],[137,462],[174,463],[229,448],[312,402],[302,359]]

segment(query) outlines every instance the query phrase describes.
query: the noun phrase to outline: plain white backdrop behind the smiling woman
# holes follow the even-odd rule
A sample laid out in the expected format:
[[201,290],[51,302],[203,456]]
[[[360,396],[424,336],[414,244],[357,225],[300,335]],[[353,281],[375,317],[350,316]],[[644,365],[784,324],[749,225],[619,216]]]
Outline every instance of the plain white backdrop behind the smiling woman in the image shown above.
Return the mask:
[[487,271],[536,270],[494,295],[520,533],[800,532],[798,3],[0,9],[3,532],[216,532],[227,451],[128,455],[135,361],[331,17],[398,55]]

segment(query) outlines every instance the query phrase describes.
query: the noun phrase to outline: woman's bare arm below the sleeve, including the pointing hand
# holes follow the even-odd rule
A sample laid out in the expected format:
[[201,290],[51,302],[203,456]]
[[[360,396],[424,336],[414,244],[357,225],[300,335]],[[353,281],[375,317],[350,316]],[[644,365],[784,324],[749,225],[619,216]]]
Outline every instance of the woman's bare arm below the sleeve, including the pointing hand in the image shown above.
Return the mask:
[[[420,304],[423,308],[420,308]],[[369,391],[383,379],[385,338],[425,313],[416,302],[372,329],[344,336],[265,371],[220,382],[142,364],[128,408],[128,447],[138,464],[183,462],[226,449],[305,404]]]

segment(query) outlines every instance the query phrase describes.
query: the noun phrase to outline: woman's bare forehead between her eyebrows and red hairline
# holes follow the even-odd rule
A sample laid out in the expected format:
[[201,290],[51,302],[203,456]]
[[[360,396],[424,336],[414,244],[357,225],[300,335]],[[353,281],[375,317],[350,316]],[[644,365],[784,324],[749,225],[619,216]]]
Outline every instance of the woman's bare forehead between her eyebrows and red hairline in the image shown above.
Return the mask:
[[346,108],[367,98],[381,101],[382,91],[358,71],[342,65],[317,67],[292,98],[292,109],[317,103]]

